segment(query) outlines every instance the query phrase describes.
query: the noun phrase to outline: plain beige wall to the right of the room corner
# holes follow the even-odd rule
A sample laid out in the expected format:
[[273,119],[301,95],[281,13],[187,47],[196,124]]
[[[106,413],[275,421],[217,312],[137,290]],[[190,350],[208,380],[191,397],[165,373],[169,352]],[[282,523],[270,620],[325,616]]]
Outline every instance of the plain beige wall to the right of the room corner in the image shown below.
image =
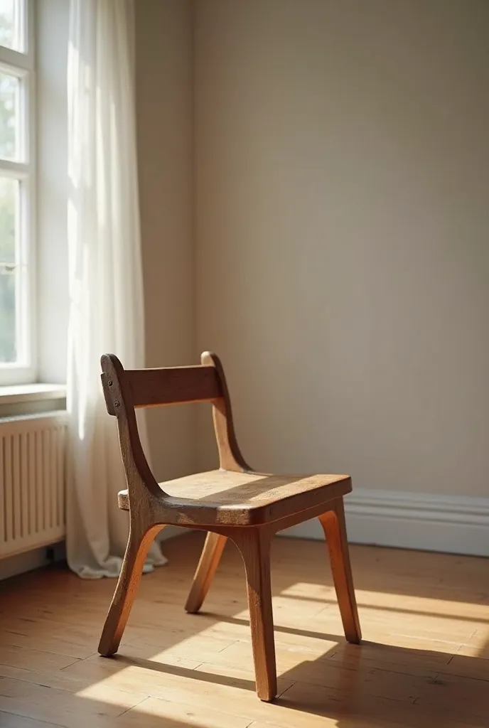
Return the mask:
[[485,0],[196,3],[198,343],[255,467],[488,495],[488,38]]

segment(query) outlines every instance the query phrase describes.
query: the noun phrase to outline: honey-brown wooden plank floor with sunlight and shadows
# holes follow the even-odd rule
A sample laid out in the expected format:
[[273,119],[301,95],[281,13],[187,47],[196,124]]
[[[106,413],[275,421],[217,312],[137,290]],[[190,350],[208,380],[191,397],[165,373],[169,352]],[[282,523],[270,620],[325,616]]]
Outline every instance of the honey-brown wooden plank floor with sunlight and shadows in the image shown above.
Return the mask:
[[2,728],[489,726],[489,560],[351,547],[361,646],[325,545],[276,539],[280,697],[254,693],[244,574],[226,546],[205,613],[183,612],[202,539],[164,544],[119,656],[96,654],[114,581],[56,567],[0,583]]

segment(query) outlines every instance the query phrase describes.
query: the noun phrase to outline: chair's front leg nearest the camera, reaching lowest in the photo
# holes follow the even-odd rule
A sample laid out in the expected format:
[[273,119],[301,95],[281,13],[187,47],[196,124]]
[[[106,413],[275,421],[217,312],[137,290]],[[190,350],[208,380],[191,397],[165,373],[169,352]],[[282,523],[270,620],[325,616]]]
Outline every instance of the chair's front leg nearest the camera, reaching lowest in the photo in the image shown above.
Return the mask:
[[231,538],[241,552],[246,569],[256,692],[261,700],[269,702],[277,695],[270,584],[271,534],[265,529],[247,528],[240,529]]

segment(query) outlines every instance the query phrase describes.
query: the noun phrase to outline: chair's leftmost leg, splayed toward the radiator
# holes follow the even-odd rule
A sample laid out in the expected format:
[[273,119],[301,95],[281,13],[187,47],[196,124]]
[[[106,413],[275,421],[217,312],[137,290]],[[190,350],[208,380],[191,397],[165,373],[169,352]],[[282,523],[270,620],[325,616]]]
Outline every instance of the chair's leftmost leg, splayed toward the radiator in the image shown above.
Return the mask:
[[98,645],[98,652],[103,657],[111,657],[119,649],[132,602],[136,596],[141,574],[143,573],[146,554],[151,542],[161,529],[162,526],[153,526],[148,531],[141,531],[131,524],[121,574]]

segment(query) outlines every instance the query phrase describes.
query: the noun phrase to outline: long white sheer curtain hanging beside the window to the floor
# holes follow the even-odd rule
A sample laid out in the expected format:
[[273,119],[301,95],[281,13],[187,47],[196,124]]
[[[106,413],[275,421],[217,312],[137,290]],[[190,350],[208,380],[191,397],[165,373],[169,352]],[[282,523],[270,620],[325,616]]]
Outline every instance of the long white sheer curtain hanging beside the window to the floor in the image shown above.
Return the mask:
[[[71,0],[68,48],[68,563],[119,574],[127,513],[100,355],[144,365],[131,0]],[[144,442],[144,439],[143,439]],[[164,563],[156,545],[146,564]]]

